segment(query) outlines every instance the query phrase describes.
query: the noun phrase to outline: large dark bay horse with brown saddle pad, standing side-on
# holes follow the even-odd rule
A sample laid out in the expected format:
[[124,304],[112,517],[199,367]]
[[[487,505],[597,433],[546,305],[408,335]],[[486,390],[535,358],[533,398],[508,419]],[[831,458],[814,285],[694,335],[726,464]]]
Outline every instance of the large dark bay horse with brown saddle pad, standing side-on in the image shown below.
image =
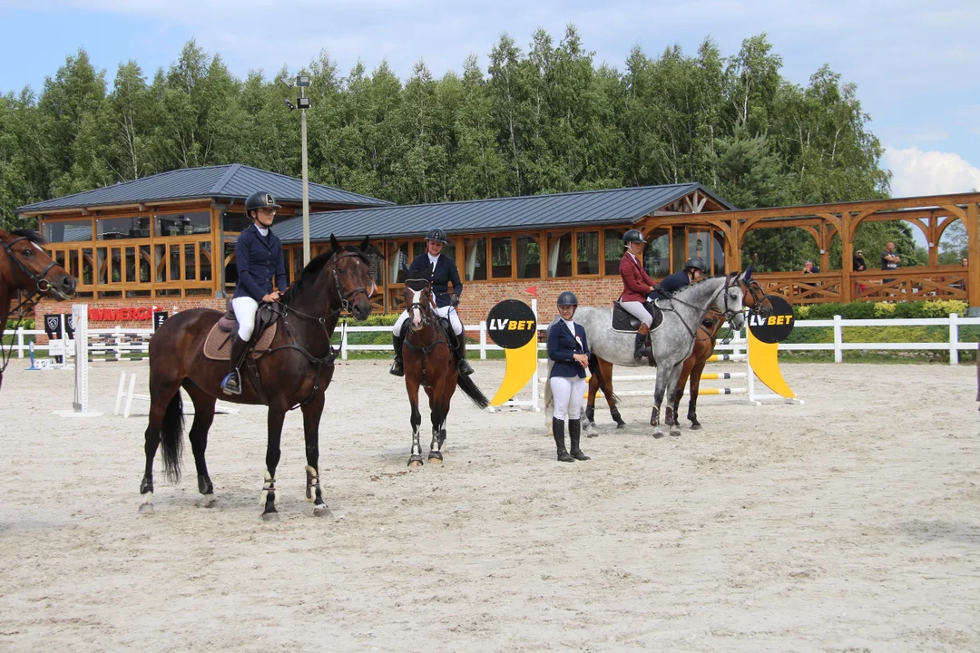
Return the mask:
[[[208,334],[221,319],[221,311],[184,310],[161,325],[150,339],[150,418],[144,445],[146,469],[139,487],[143,496],[141,513],[153,512],[153,458],[159,444],[163,445],[168,480],[180,480],[183,388],[194,402],[194,422],[188,439],[204,505],[210,506],[215,500],[204,454],[208,430],[215,419],[215,401],[221,397],[236,403],[269,406],[266,476],[260,499],[263,519],[278,519],[275,468],[279,464],[282,422],[286,412],[297,406],[303,411],[306,440],[306,497],[314,503],[314,515],[329,514],[319,484],[319,419],[337,355],[330,347],[330,336],[342,310],[350,310],[358,320],[370,314],[368,299],[375,286],[365,256],[368,241],[366,238],[359,248],[344,248],[331,234],[330,249],[310,261],[279,301],[261,304],[260,318],[263,312],[270,316],[276,326],[275,336],[268,349],[256,352],[259,357],[254,366],[251,362],[243,364],[241,395],[225,396],[221,392],[221,379],[228,373],[227,361],[204,355]],[[255,340],[259,336],[257,328]],[[231,337],[237,337],[234,331]]]

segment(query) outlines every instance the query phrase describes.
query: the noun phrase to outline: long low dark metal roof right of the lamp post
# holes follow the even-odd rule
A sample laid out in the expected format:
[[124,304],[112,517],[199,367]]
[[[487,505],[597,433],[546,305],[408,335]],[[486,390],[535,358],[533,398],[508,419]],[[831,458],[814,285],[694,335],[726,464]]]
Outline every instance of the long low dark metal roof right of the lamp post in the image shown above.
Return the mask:
[[[732,205],[701,184],[616,188],[556,195],[444,202],[380,209],[333,210],[310,215],[310,240],[419,237],[439,227],[449,233],[511,231],[522,227],[561,227],[633,222],[698,190],[724,207]],[[283,243],[303,241],[302,216],[275,226]]]

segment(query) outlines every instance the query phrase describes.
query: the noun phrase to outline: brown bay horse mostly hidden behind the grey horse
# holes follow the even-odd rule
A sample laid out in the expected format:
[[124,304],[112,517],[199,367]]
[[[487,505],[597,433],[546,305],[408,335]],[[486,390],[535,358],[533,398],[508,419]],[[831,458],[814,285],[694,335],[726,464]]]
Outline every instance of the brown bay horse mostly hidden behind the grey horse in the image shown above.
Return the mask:
[[[751,278],[748,270],[742,279],[742,290],[745,294],[745,306],[751,311],[758,311],[763,316],[767,316],[772,311],[772,303],[765,296],[765,292],[762,290],[759,282]],[[673,406],[674,415],[680,414],[678,404],[680,403],[681,396],[684,395],[684,386],[690,379],[687,418],[691,421],[691,429],[695,431],[701,429],[701,422],[698,421],[698,392],[701,389],[701,374],[704,372],[705,365],[708,363],[708,359],[711,358],[711,354],[714,353],[718,331],[721,330],[721,325],[725,321],[721,313],[721,309],[716,305],[712,305],[709,308],[707,316],[702,320],[698,329],[698,335],[694,341],[694,350],[691,351],[691,355],[684,361],[680,378],[677,380],[677,392],[674,395]],[[596,425],[596,393],[602,390],[603,395],[606,396],[606,402],[609,404],[610,414],[613,416],[616,428],[625,426],[626,423],[622,420],[622,417],[619,415],[619,410],[616,408],[617,398],[613,393],[613,363],[593,354],[589,360],[589,369],[592,372],[592,376],[589,378],[589,395],[585,409],[585,416],[588,419],[586,424],[593,428]]]

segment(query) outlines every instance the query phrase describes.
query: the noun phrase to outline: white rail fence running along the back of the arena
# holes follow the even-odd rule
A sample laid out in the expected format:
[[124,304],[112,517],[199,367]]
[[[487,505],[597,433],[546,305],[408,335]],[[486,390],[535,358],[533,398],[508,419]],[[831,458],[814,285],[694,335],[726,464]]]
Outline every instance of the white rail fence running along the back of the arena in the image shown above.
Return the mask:
[[[934,350],[949,351],[950,364],[956,365],[959,362],[959,351],[975,350],[976,342],[959,342],[960,326],[980,326],[980,317],[959,317],[956,313],[949,317],[919,318],[919,319],[877,319],[877,320],[845,320],[840,315],[835,315],[832,320],[799,320],[794,325],[794,329],[807,329],[815,327],[832,328],[834,331],[833,343],[800,343],[800,344],[781,344],[780,350],[784,351],[833,351],[834,360],[842,362],[844,351],[882,351],[882,350]],[[846,343],[844,342],[845,327],[897,327],[897,326],[945,326],[948,328],[949,337],[946,342],[939,343]],[[494,345],[487,336],[486,322],[477,325],[466,325],[466,333],[475,335],[478,343],[466,345],[466,350],[479,351],[481,359],[487,357],[487,351],[501,351],[502,349]],[[538,324],[538,330],[544,331],[546,324]],[[358,333],[391,333],[390,326],[348,326],[338,329],[340,334],[340,355],[344,360],[347,359],[351,351],[390,351],[391,345],[361,345],[350,342],[350,336]],[[335,333],[335,336],[337,335]],[[89,329],[89,357],[91,360],[142,360],[148,350],[150,336],[153,335],[152,329]],[[43,336],[44,331],[33,331],[18,329],[14,333],[4,334],[4,338],[13,337],[13,349],[17,351],[20,358],[25,357],[29,348],[29,337]],[[736,338],[743,337],[744,332]],[[539,350],[547,349],[544,343],[538,344]],[[47,345],[35,345],[34,350],[41,355],[48,351]],[[719,342],[715,350],[719,352],[739,352],[738,341],[735,344]],[[67,347],[69,357],[73,356],[71,343]],[[132,354],[142,354],[133,356]],[[123,357],[125,355],[125,357]],[[102,357],[93,357],[102,356]]]

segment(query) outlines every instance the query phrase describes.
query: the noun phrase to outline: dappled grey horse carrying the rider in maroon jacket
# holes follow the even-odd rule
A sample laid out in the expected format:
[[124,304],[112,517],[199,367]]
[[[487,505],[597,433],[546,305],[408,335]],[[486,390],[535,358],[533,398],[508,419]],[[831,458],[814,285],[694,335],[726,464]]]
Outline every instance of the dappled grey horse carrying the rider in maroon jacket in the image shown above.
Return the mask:
[[[741,329],[745,323],[742,314],[742,273],[734,273],[723,277],[711,277],[695,282],[678,291],[668,300],[658,300],[657,305],[663,310],[663,321],[659,327],[650,332],[653,345],[654,359],[657,361],[657,386],[654,391],[654,409],[650,415],[650,425],[655,427],[654,438],[662,438],[661,404],[664,395],[669,391],[666,412],[663,421],[670,427],[671,436],[679,436],[676,415],[673,406],[676,404],[674,394],[677,392],[677,381],[680,378],[684,361],[694,350],[694,339],[698,326],[712,304],[718,306],[728,322],[736,329]],[[613,310],[595,306],[581,306],[575,311],[574,320],[585,329],[586,342],[589,350],[600,358],[610,361],[613,365],[624,367],[645,367],[649,365],[647,358],[633,358],[635,334],[613,331]],[[548,369],[551,371],[551,361]],[[683,392],[683,391],[682,391]],[[551,386],[545,385],[545,406],[551,405]]]

